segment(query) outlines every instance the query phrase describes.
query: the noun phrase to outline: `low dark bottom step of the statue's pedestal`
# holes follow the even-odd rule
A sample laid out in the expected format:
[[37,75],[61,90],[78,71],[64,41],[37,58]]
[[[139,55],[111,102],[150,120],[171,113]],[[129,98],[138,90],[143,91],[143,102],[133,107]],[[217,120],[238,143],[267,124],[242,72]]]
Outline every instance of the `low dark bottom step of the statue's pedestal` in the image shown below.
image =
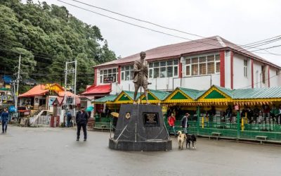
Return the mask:
[[120,151],[169,151],[171,150],[171,140],[131,142],[110,139],[109,147]]

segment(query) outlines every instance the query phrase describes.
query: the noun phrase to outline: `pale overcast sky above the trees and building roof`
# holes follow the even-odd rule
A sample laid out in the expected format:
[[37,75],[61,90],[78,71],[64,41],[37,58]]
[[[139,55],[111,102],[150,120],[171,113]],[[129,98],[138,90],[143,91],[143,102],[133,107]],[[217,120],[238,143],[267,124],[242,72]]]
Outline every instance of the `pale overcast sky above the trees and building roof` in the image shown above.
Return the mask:
[[[87,8],[91,11],[110,15],[113,18],[125,20],[129,23],[149,27],[169,34],[174,34],[188,39],[200,39],[188,34],[182,34],[160,27],[141,23],[136,20],[124,18],[119,15],[101,11],[97,8],[78,4],[71,0],[62,0],[76,6]],[[281,1],[188,1],[188,0],[79,0],[93,6],[106,8],[110,11],[129,15],[133,18],[147,20],[158,25],[171,27],[176,30],[198,34],[203,37],[219,35],[235,44],[249,44],[251,42],[268,39],[281,35]],[[188,41],[176,37],[159,34],[140,27],[131,26],[96,15],[89,11],[63,4],[57,0],[46,0],[48,4],[66,6],[75,17],[84,23],[96,25],[100,28],[103,37],[107,39],[110,49],[117,56],[130,56],[152,49],[157,46]],[[259,46],[267,48],[281,45],[281,40],[272,44]],[[256,49],[249,49],[249,51]],[[268,49],[270,53],[254,53],[281,66],[281,47]],[[258,51],[267,53],[267,51]]]

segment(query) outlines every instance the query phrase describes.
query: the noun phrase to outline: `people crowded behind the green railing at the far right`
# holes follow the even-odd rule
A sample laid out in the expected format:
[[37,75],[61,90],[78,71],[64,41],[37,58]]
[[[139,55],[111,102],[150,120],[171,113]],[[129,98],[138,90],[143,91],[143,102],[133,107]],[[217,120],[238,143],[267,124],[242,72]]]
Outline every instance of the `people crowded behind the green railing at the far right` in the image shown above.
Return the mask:
[[[233,107],[228,106],[226,111],[223,113],[224,118],[229,118],[230,122],[233,122]],[[254,106],[253,109],[249,106],[244,106],[244,108],[241,111],[242,118],[247,118],[249,123],[261,123],[266,122],[266,118],[268,120],[272,119],[273,122],[281,123],[281,105],[277,108],[275,104],[273,104],[273,107],[270,108],[268,105],[263,105],[261,108],[258,106]],[[278,120],[279,119],[279,120]]]

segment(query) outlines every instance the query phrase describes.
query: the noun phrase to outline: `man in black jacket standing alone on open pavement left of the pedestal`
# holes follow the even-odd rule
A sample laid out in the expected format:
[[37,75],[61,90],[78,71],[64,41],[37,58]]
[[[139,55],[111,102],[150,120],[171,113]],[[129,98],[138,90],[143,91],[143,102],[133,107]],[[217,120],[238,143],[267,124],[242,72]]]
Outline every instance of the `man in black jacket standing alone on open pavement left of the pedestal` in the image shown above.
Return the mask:
[[80,130],[81,127],[83,128],[83,132],[84,132],[84,142],[86,142],[87,140],[87,123],[88,123],[88,113],[86,113],[84,107],[81,107],[81,111],[77,112],[76,114],[76,123],[77,123],[77,141],[79,141],[79,137],[80,137]]

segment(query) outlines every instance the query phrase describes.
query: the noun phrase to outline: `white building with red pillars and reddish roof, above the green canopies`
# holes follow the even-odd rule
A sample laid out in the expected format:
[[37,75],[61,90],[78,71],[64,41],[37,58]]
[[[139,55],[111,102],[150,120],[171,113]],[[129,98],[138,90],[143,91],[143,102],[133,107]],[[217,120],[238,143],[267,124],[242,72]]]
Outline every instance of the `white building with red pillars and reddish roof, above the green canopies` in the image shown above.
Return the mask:
[[[159,46],[145,52],[152,82],[149,89],[209,89],[212,84],[230,89],[281,85],[280,66],[219,36]],[[101,85],[108,94],[108,90],[110,94],[133,91],[133,61],[139,58],[138,53],[95,66],[91,96],[99,94],[94,89],[100,90]]]

